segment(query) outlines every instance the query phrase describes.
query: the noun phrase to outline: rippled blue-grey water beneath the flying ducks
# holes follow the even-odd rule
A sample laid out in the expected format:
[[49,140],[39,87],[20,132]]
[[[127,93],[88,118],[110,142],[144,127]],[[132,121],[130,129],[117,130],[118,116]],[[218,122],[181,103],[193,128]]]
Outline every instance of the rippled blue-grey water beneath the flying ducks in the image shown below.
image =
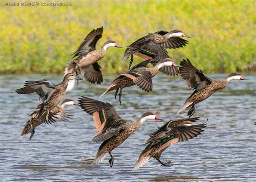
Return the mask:
[[[223,78],[224,74],[210,75]],[[68,122],[42,124],[30,141],[19,138],[28,115],[37,106],[36,95],[17,95],[14,90],[25,80],[51,79],[60,82],[62,76],[28,75],[0,76],[0,180],[256,180],[256,76],[244,75],[248,81],[232,81],[209,99],[197,104],[194,116],[208,118],[208,127],[197,138],[170,146],[162,155],[173,166],[163,167],[151,159],[142,169],[132,172],[143,143],[150,132],[162,123],[147,121],[122,145],[113,150],[114,165],[109,156],[104,163],[91,165],[99,143],[92,143],[96,135],[94,122],[80,107],[69,106],[76,115]],[[78,96],[98,99],[113,77],[104,78],[103,85],[80,82],[66,97]],[[157,75],[153,92],[145,93],[133,86],[123,90],[123,106],[114,100],[114,93],[100,100],[112,103],[120,116],[137,120],[146,111],[156,111],[160,117],[174,116],[192,93],[184,80]]]

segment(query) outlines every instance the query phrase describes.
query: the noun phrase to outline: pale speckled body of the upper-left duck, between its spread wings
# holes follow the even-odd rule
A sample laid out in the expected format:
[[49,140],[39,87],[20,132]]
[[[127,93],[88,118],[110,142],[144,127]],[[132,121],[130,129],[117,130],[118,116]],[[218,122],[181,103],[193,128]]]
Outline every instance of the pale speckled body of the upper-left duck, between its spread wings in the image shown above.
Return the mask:
[[96,61],[102,59],[104,55],[105,55],[105,52],[95,50],[95,51],[89,52],[85,56],[77,58],[76,62],[78,66],[83,68],[85,66],[92,65]]

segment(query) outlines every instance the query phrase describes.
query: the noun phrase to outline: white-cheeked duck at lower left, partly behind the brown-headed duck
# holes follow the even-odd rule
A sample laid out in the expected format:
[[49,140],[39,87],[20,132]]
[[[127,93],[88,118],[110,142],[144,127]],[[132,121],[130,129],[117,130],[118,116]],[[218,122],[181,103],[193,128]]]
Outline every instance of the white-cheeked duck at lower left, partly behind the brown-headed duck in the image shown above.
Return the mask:
[[[73,99],[65,99],[58,106],[53,108],[50,113],[49,113],[49,120],[43,122],[40,118],[37,118],[35,114],[30,115],[29,121],[26,122],[26,124],[23,127],[23,130],[21,132],[21,138],[24,137],[24,135],[30,133],[29,139],[33,137],[35,134],[35,128],[38,127],[38,125],[41,125],[43,123],[45,124],[52,124],[56,121],[68,121],[68,119],[72,116],[71,113],[68,111],[64,110],[65,106],[71,106],[75,105],[77,106],[78,104],[76,103],[75,100]],[[36,110],[40,109],[40,105],[36,108]],[[36,113],[36,112],[34,112]]]

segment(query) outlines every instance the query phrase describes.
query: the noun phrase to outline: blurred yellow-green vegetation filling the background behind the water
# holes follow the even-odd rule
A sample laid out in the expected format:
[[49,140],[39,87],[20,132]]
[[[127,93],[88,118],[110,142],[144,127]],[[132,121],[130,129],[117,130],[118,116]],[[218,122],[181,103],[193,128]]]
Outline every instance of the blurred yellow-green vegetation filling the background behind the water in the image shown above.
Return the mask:
[[[10,1],[13,2],[13,1]],[[109,48],[99,61],[104,73],[126,71],[126,46],[148,32],[183,30],[184,48],[168,50],[175,61],[189,58],[211,72],[255,71],[255,1],[69,1],[64,7],[0,6],[1,73],[63,73],[92,29],[124,48]],[[140,61],[135,57],[135,63]]]

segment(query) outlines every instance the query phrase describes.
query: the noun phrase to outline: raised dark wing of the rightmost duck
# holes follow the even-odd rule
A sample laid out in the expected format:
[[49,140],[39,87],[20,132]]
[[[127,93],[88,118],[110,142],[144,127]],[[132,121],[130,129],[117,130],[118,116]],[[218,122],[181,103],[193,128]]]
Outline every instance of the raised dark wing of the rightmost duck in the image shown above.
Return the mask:
[[187,86],[196,89],[196,91],[209,85],[212,80],[209,79],[203,71],[197,69],[192,65],[190,60],[182,60],[180,62],[181,68],[179,69],[181,78],[183,78]]

